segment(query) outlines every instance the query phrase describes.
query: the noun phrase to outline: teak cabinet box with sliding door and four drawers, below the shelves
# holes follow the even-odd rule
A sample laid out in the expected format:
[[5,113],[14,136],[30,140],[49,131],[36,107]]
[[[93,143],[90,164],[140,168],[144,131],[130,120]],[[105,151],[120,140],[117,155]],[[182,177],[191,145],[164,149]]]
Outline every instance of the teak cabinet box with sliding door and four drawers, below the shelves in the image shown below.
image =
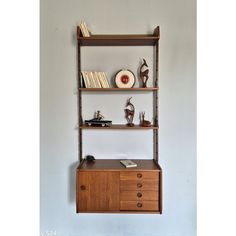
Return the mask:
[[76,173],[77,213],[162,213],[162,170],[154,160],[82,161]]

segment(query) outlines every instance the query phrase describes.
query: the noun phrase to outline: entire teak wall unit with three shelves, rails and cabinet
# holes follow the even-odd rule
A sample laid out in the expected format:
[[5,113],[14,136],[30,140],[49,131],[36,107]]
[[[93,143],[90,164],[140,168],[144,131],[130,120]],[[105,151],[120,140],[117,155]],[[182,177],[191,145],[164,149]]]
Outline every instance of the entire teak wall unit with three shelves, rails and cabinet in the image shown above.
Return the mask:
[[[153,35],[92,35],[82,37],[77,28],[78,75],[81,73],[82,46],[154,46],[155,67],[153,87],[148,88],[83,88],[78,84],[79,116],[79,158],[76,172],[76,211],[77,213],[162,213],[162,169],[158,164],[158,45],[160,31],[156,27]],[[151,127],[125,124],[112,124],[110,127],[93,127],[83,124],[82,93],[115,91],[142,91],[153,93],[154,123]],[[154,157],[148,160],[133,160],[136,168],[125,168],[120,160],[97,159],[87,162],[83,159],[82,132],[86,129],[99,130],[153,130]]]

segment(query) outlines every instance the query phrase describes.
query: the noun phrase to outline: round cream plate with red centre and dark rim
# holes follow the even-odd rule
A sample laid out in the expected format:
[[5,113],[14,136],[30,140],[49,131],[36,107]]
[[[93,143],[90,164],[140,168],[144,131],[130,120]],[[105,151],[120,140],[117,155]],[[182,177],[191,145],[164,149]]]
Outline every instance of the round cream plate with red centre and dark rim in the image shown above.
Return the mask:
[[135,84],[135,76],[131,70],[120,70],[115,75],[115,83],[118,88],[132,88]]

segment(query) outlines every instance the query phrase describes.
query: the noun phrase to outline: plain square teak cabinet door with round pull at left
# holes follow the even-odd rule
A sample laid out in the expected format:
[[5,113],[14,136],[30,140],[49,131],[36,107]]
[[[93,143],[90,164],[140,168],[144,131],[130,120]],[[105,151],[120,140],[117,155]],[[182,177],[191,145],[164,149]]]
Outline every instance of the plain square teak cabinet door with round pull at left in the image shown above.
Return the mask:
[[119,210],[118,171],[79,171],[77,175],[79,211]]

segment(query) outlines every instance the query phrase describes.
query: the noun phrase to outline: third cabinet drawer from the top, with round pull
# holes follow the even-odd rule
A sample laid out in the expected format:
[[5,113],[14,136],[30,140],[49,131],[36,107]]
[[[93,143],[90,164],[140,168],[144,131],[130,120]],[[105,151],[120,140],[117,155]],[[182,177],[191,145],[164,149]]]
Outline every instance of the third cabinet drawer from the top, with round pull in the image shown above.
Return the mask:
[[120,192],[121,201],[157,201],[158,192],[157,191],[121,191]]

